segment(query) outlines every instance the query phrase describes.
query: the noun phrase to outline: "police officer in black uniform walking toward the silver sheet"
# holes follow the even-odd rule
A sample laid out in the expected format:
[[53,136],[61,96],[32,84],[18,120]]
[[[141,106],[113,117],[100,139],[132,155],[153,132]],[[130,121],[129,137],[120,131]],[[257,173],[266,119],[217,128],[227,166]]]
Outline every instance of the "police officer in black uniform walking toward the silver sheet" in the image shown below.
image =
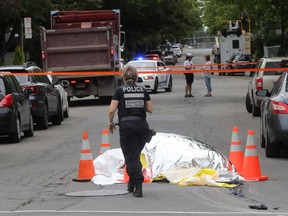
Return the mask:
[[116,89],[108,112],[109,131],[113,133],[114,115],[118,109],[120,146],[129,175],[128,191],[133,196],[142,197],[142,164],[140,154],[149,136],[146,112],[153,112],[153,104],[148,92],[137,86],[137,69],[126,65],[123,69],[124,85]]

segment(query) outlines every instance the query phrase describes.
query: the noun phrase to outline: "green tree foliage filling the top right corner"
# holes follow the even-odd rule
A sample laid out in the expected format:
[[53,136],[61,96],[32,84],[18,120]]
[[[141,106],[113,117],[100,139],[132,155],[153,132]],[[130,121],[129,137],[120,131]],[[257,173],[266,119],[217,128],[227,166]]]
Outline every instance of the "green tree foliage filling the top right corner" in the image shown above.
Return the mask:
[[287,55],[288,5],[281,0],[204,0],[203,22],[212,34],[223,29],[224,20],[236,20],[246,11],[250,17],[252,48],[256,58],[263,46],[281,45],[279,55]]

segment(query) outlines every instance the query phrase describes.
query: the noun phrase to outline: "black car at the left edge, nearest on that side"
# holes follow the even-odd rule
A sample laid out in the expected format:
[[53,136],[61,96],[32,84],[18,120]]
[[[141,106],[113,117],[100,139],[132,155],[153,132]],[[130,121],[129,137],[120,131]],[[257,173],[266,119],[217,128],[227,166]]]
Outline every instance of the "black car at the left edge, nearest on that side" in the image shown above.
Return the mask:
[[12,142],[34,135],[29,90],[23,91],[9,72],[0,72],[0,135],[8,135]]

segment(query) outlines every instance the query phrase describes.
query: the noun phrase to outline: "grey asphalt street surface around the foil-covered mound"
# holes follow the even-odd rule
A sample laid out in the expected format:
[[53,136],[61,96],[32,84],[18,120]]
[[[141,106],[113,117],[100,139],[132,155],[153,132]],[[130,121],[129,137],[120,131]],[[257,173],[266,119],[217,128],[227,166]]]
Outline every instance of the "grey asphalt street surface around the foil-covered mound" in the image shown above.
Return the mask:
[[[204,54],[210,54],[211,50],[192,51],[194,63],[204,63]],[[287,158],[268,159],[260,148],[260,120],[245,109],[249,79],[214,74],[213,97],[207,98],[204,80],[201,74],[196,74],[195,97],[184,98],[184,75],[173,75],[171,93],[151,94],[155,112],[147,119],[158,132],[201,140],[226,156],[232,127],[239,128],[243,148],[247,131],[254,130],[261,172],[269,176],[267,181],[243,182],[234,189],[146,183],[143,198],[131,194],[66,196],[77,191],[126,190],[125,184],[99,186],[72,181],[77,176],[82,132],[88,132],[92,155],[96,158],[102,130],[107,127],[108,105],[87,98],[72,100],[70,117],[60,126],[35,131],[34,137],[23,138],[19,144],[0,139],[0,215],[288,215]],[[118,132],[109,138],[111,147],[119,148]],[[261,204],[268,210],[249,208]]]

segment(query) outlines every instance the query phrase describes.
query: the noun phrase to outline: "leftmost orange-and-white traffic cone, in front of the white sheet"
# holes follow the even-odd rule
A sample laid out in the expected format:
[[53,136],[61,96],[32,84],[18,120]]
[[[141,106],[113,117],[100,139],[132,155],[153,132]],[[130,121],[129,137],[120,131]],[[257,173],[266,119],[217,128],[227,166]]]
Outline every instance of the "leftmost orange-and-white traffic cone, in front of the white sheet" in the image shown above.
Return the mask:
[[88,182],[95,176],[95,169],[93,164],[92,153],[88,140],[88,133],[82,134],[82,149],[81,158],[79,162],[78,178],[73,179],[77,182]]

